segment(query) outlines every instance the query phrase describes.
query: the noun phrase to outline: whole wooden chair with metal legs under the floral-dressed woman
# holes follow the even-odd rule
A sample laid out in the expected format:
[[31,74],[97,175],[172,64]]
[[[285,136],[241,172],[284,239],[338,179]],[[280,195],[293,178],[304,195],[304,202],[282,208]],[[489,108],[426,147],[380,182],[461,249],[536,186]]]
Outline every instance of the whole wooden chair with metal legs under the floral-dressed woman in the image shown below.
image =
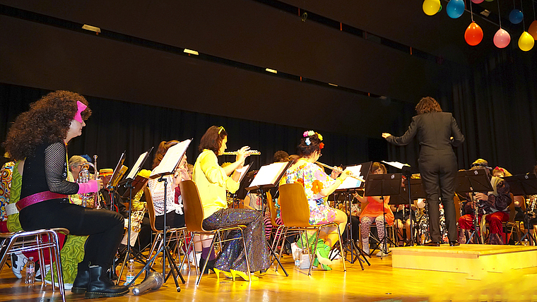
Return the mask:
[[[313,250],[317,250],[317,242],[319,241],[319,231],[326,227],[336,227],[338,230],[339,242],[341,242],[341,234],[339,232],[338,224],[336,222],[329,222],[327,224],[309,224],[309,205],[307,203],[304,187],[300,183],[285,183],[279,188],[280,198],[280,214],[283,224],[285,225],[285,233],[283,238],[286,237],[288,231],[316,231],[317,236],[315,238],[315,246]],[[307,243],[302,246],[309,246]],[[309,248],[309,247],[308,247]],[[317,255],[313,250],[309,253],[309,271],[308,276],[312,274],[312,267],[314,259]],[[281,258],[282,250],[280,250]],[[343,270],[347,271],[345,260],[343,259]]]

